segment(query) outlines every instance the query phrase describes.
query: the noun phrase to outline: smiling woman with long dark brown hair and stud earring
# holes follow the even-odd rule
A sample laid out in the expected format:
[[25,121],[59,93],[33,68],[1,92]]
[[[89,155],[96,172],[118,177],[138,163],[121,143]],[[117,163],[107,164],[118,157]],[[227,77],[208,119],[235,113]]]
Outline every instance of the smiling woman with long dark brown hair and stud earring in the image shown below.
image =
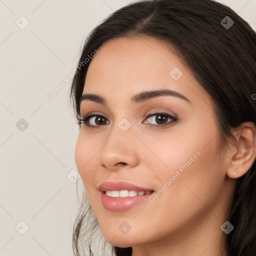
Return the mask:
[[255,70],[255,32],[212,0],[135,2],[90,33],[75,255],[99,226],[115,255],[255,256]]

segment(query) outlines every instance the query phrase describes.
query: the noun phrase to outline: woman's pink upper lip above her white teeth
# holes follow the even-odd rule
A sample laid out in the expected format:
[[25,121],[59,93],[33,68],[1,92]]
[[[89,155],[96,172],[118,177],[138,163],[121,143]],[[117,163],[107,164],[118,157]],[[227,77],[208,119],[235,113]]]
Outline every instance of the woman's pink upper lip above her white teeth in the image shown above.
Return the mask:
[[135,191],[152,191],[151,188],[144,188],[126,181],[105,181],[101,183],[98,187],[99,191],[120,191],[120,190],[135,190]]

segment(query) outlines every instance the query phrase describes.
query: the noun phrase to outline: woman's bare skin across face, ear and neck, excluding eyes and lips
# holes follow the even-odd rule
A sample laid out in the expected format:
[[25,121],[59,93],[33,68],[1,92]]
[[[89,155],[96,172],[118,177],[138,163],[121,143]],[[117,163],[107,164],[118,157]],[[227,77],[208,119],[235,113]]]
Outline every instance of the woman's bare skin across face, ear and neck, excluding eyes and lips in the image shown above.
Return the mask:
[[[227,220],[235,178],[255,159],[254,125],[241,126],[235,134],[239,143],[230,143],[223,157],[210,96],[165,42],[118,38],[98,50],[83,93],[98,94],[106,104],[85,100],[80,110],[109,122],[100,126],[91,118],[90,124],[98,124],[93,129],[81,124],[75,161],[104,238],[115,246],[132,246],[132,256],[226,255],[220,226]],[[169,75],[174,67],[183,73],[178,80]],[[138,92],[166,88],[190,102],[169,95],[130,101]],[[157,115],[146,119],[149,111],[163,111],[178,121],[149,126],[157,123]],[[131,123],[125,132],[117,125],[123,118]],[[97,187],[103,181],[128,181],[157,191],[197,151],[197,159],[154,202],[122,212],[102,205]],[[123,221],[131,227],[125,234],[118,228]]]

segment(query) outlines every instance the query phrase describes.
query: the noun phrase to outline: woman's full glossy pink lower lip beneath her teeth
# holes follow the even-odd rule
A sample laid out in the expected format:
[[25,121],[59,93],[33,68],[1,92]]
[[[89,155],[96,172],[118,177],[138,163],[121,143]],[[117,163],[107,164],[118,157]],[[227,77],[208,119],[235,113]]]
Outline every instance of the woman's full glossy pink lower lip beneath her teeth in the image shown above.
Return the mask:
[[132,208],[133,206],[145,201],[153,192],[144,195],[135,195],[128,197],[111,197],[104,192],[101,193],[101,200],[104,207],[111,211],[124,211]]

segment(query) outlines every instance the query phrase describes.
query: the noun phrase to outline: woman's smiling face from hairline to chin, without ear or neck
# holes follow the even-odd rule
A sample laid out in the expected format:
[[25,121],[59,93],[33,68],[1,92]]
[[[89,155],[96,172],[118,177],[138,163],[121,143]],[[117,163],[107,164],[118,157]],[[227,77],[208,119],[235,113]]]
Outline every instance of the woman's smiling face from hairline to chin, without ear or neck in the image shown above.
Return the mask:
[[210,97],[165,42],[118,38],[98,50],[75,161],[104,238],[160,243],[215,223],[226,173]]

